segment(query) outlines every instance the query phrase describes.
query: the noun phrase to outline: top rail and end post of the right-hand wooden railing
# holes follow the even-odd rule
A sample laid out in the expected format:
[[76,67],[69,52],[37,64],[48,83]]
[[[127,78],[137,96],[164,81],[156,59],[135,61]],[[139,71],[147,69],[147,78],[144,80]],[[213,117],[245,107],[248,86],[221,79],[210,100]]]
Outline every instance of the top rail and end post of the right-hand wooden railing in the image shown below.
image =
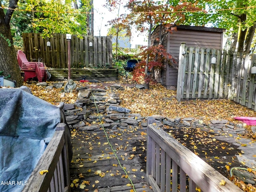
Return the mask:
[[[182,169],[198,187],[204,192],[242,192],[234,183],[222,176],[218,171],[180,144],[177,140],[169,136],[162,128],[152,124],[154,121],[148,119],[147,128],[147,162],[146,162],[146,181],[150,184],[154,192],[161,192],[164,189],[159,188],[156,184],[154,174],[152,174],[152,148],[154,144],[158,144],[162,150],[170,156],[180,169]],[[151,144],[153,146],[151,146]],[[155,165],[156,166],[156,165]],[[166,171],[168,172],[168,170]],[[166,176],[166,174],[165,174]],[[161,178],[161,181],[165,178]],[[225,185],[220,185],[221,180],[226,182]],[[189,189],[194,191],[194,189]]]

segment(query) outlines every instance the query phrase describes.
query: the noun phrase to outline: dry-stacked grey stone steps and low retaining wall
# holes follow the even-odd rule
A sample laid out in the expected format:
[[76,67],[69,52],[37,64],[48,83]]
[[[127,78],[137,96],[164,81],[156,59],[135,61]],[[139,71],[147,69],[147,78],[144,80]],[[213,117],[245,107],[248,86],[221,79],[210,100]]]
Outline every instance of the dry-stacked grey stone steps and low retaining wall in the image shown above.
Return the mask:
[[[104,128],[126,129],[138,126],[147,126],[147,118],[140,114],[130,113],[127,108],[119,106],[121,100],[114,92],[123,90],[120,85],[111,85],[104,88],[80,87],[75,104],[64,104],[63,110],[66,121],[72,128],[79,130],[101,131]],[[229,134],[243,134],[245,129],[242,124],[234,124],[228,120],[211,120],[205,124],[202,120],[194,118],[168,118],[165,116],[152,116],[158,126],[184,127],[212,129],[215,132],[228,132]],[[100,123],[102,122],[102,124]]]

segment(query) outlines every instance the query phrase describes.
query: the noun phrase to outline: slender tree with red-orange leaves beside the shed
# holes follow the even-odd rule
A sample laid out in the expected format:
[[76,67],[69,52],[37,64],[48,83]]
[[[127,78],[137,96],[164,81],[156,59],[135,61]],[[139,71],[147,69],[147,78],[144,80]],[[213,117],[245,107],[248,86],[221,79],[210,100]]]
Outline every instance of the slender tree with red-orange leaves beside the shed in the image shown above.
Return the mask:
[[[154,80],[154,68],[162,67],[164,60],[168,62],[171,59],[163,47],[164,36],[175,30],[177,24],[182,24],[188,12],[202,8],[198,8],[194,0],[128,0],[126,7],[130,14],[126,15],[123,23],[134,25],[140,32],[148,32],[148,46],[142,52],[142,61],[136,66],[133,74],[134,80],[142,76],[144,87],[148,89],[149,82]],[[151,45],[151,33],[158,25],[158,43]]]

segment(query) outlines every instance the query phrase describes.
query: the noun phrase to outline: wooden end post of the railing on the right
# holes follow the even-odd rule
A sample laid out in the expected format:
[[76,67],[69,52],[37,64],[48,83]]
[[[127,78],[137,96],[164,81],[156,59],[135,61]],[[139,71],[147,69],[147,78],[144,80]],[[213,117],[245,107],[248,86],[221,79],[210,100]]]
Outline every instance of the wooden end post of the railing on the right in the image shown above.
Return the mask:
[[[153,117],[148,118],[148,126],[150,124],[155,123],[156,120]],[[152,139],[151,136],[148,134],[148,126],[147,126],[147,162],[146,162],[146,182],[148,182],[148,176],[152,174]]]

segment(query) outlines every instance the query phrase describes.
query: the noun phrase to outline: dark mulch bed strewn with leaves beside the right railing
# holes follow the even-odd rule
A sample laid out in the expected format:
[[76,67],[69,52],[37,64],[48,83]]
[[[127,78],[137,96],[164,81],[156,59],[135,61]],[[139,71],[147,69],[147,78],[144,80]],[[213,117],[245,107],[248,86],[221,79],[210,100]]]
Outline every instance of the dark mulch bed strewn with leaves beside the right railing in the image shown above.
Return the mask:
[[215,139],[217,134],[211,130],[170,126],[164,126],[163,129],[227,178],[229,171],[226,165],[230,168],[243,167],[235,156],[242,153],[238,146]]

